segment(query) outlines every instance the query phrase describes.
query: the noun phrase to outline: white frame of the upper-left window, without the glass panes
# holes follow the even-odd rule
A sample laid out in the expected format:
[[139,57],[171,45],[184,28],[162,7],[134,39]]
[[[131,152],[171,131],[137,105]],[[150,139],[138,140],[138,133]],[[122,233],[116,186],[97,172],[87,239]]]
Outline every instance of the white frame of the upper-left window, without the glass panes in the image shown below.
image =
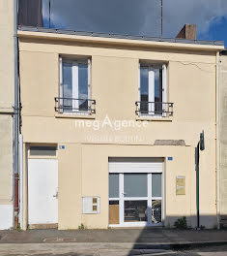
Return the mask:
[[[71,63],[71,82],[72,82],[72,95],[71,97],[74,99],[78,99],[79,97],[79,80],[78,80],[78,64],[79,63],[87,63],[88,64],[88,99],[91,98],[91,59],[81,59],[81,60],[71,60],[65,59],[63,57],[59,58],[60,65],[60,86],[59,86],[59,95],[60,98],[63,98],[63,63]],[[60,100],[60,105],[63,106],[63,99]],[[79,110],[79,101],[72,101],[72,109],[73,111],[63,111],[63,113],[82,113],[82,114],[90,114],[90,112],[84,112]],[[91,101],[88,101],[88,109],[91,109]]]

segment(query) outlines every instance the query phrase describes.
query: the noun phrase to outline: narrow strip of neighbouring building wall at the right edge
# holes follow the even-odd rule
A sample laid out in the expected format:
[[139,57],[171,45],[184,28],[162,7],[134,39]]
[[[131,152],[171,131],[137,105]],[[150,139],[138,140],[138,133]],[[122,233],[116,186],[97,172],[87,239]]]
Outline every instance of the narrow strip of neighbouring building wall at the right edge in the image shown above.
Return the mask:
[[220,214],[227,225],[227,56],[220,59]]

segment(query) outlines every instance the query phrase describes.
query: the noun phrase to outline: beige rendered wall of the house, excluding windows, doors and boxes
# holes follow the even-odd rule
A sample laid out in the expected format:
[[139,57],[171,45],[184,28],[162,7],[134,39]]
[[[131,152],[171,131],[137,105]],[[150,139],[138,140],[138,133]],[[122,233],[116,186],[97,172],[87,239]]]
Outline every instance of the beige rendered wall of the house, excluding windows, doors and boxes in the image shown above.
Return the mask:
[[[20,39],[22,134],[24,143],[65,144],[59,159],[59,229],[108,226],[108,157],[172,156],[165,162],[165,224],[186,215],[195,226],[194,148],[205,131],[200,161],[201,224],[216,225],[215,207],[215,52],[173,48],[89,45],[68,41]],[[59,88],[59,55],[92,58],[92,97],[97,113],[62,116],[54,111]],[[148,119],[135,115],[139,60],[167,64],[168,101],[174,116]],[[103,121],[132,120],[141,127],[112,130],[78,128]],[[78,116],[77,116],[78,117]],[[156,146],[156,140],[184,140],[185,146]],[[176,176],[185,176],[186,195],[176,196]],[[25,190],[26,191],[26,190]],[[100,196],[100,214],[81,215],[81,196]]]

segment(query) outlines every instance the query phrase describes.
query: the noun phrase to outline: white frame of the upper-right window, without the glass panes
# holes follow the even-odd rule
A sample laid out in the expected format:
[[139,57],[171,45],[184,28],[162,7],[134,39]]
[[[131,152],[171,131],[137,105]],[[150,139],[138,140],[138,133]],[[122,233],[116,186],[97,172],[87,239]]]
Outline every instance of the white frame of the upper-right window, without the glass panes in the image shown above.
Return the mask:
[[[155,69],[157,68],[162,68],[162,102],[166,103],[167,102],[167,88],[166,88],[166,64],[148,64],[145,65],[148,67],[149,70],[149,75],[148,75],[148,102],[155,102]],[[139,63],[139,80],[138,80],[138,92],[139,92],[139,102],[141,102],[141,85],[140,85],[140,78],[141,78],[141,64]],[[165,104],[162,105],[162,110],[167,111],[168,108]],[[140,113],[139,115],[141,116],[155,116],[155,117],[164,117],[166,116],[166,112],[162,113],[162,116],[157,115],[155,113],[155,104],[149,104],[148,105],[148,112],[151,113]]]

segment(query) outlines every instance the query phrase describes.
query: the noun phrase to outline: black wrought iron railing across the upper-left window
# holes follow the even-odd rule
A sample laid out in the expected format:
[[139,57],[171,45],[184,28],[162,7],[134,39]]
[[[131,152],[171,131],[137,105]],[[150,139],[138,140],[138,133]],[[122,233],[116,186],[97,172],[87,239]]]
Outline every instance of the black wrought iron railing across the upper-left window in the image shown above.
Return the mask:
[[96,113],[96,100],[55,97],[55,112]]

